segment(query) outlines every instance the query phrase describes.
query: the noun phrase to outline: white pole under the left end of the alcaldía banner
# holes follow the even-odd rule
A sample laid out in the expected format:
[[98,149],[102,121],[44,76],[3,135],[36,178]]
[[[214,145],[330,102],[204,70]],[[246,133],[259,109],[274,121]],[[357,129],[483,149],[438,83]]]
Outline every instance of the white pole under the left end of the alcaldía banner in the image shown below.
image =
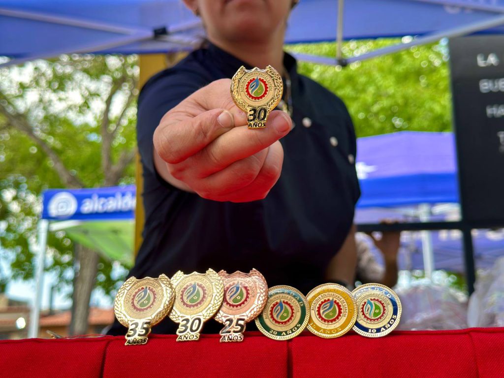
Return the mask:
[[28,337],[38,336],[38,321],[40,316],[40,306],[42,304],[42,289],[44,286],[44,263],[45,263],[45,248],[47,244],[47,231],[49,221],[40,219],[38,221],[38,250],[37,250],[37,271],[35,276],[35,299],[33,300],[30,313],[30,329]]

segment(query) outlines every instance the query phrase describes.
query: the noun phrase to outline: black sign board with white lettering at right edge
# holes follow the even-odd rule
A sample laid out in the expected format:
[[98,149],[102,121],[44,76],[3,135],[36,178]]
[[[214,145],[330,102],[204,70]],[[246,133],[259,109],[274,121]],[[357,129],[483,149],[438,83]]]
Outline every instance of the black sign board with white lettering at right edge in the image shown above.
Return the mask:
[[450,40],[465,221],[504,225],[504,36]]

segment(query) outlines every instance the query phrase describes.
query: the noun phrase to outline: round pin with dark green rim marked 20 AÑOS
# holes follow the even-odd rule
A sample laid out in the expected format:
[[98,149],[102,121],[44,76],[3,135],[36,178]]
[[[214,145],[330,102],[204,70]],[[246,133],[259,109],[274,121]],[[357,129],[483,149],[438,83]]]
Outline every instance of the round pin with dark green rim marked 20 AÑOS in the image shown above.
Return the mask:
[[279,285],[268,290],[268,301],[256,325],[270,339],[289,340],[304,330],[308,320],[304,295],[291,286]]

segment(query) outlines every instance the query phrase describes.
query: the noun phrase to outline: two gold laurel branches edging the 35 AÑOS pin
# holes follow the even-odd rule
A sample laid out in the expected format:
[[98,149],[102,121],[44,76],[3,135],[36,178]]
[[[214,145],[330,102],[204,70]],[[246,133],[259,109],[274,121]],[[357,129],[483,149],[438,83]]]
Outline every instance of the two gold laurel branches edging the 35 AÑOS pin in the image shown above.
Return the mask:
[[[164,298],[161,302],[161,305],[159,306],[158,310],[155,311],[152,316],[145,318],[145,320],[150,320],[151,321],[151,326],[154,326],[158,324],[163,318],[166,317],[168,312],[170,312],[172,306],[173,306],[173,301],[175,299],[175,296],[173,295],[173,285],[170,281],[170,279],[164,275],[161,274],[157,280],[161,284],[161,287],[164,290]],[[124,327],[129,327],[130,323],[135,321],[136,319],[133,319],[127,315],[127,313],[124,310],[124,298],[126,297],[126,294],[128,290],[135,284],[135,282],[140,281],[136,277],[132,276],[128,278],[120,287],[119,291],[117,291],[117,294],[114,299],[114,313],[115,317],[119,321],[120,324],[122,324]]]

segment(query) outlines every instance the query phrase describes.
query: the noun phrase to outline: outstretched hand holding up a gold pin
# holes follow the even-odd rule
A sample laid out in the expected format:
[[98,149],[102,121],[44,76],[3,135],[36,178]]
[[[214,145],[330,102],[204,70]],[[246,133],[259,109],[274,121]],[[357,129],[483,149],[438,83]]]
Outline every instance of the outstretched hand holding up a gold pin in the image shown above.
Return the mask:
[[230,86],[229,79],[212,82],[163,116],[154,133],[156,169],[172,185],[209,200],[261,200],[280,177],[279,139],[292,121],[275,110],[265,129],[249,130]]

